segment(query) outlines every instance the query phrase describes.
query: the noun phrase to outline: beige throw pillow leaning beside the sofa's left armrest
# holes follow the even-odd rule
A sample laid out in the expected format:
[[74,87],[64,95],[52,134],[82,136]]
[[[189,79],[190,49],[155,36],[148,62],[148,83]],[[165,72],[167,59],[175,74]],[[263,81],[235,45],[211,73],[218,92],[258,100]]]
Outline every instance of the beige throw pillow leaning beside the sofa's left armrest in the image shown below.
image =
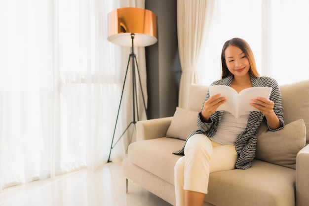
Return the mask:
[[172,122],[167,129],[166,136],[186,140],[188,135],[198,129],[198,112],[176,107]]

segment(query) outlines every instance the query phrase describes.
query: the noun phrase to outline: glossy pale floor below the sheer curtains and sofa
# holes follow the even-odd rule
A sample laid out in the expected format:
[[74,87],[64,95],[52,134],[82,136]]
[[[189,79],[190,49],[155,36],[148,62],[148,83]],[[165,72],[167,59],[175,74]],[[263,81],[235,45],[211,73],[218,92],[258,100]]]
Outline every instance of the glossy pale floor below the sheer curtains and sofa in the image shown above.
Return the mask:
[[95,172],[84,169],[6,188],[0,192],[0,206],[171,206],[128,183],[126,193],[121,163],[108,163]]

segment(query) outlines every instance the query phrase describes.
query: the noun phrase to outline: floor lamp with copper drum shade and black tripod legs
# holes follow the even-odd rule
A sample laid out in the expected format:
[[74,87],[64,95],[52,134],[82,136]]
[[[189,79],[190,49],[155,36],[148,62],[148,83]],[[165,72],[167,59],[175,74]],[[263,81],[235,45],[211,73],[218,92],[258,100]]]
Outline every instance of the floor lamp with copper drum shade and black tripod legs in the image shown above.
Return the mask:
[[[134,47],[149,46],[157,42],[156,15],[154,14],[154,12],[147,10],[147,9],[143,9],[143,8],[126,7],[126,8],[115,9],[108,14],[108,38],[107,39],[108,41],[111,41],[118,45],[131,47],[131,53],[129,55],[129,60],[128,60],[128,64],[127,64],[127,68],[125,72],[123,86],[122,86],[122,92],[121,92],[120,103],[119,103],[117,117],[116,117],[116,124],[114,128],[114,134],[113,134],[109,159],[107,161],[109,163],[109,162],[112,162],[110,160],[112,149],[116,146],[116,144],[118,143],[120,138],[124,135],[124,133],[127,131],[127,129],[132,124],[135,125],[136,122],[139,121],[136,75],[138,76],[139,86],[141,87],[141,93],[143,97],[144,108],[145,108],[146,116],[148,119],[145,98],[144,98],[142,83],[140,79],[140,73],[138,70],[136,55],[134,53]],[[132,64],[133,120],[126,127],[124,132],[120,135],[120,137],[114,144],[116,126],[118,122],[119,111],[120,111],[124,86],[125,86],[130,62]],[[136,109],[136,112],[135,112],[135,109]],[[137,116],[137,119],[136,119],[136,116]]]

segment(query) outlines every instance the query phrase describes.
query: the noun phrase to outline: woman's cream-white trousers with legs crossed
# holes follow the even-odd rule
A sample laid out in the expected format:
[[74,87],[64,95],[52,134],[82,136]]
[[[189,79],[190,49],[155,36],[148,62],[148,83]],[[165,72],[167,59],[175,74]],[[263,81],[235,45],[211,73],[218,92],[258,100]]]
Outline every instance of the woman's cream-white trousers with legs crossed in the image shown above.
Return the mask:
[[174,167],[176,206],[185,205],[185,190],[208,193],[209,174],[234,169],[235,146],[221,145],[204,134],[195,134],[187,141],[185,156]]

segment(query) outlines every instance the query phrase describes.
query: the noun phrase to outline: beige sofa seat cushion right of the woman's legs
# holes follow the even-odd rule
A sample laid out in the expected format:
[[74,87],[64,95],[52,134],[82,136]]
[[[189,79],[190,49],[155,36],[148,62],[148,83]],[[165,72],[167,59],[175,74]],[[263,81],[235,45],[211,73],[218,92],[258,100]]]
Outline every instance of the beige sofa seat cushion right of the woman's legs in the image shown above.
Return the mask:
[[205,200],[216,206],[294,206],[295,172],[260,160],[249,169],[214,172]]

